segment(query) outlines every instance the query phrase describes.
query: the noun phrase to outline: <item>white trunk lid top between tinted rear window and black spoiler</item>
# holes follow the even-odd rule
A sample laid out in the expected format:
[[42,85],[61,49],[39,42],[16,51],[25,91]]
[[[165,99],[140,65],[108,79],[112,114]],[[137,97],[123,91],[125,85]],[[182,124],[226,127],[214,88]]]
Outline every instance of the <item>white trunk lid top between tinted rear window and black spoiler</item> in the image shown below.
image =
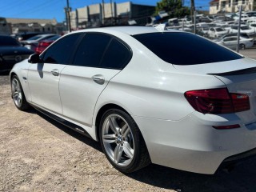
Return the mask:
[[256,61],[250,58],[241,58],[227,62],[212,62],[190,66],[173,66],[175,69],[187,74],[225,74],[255,68]]

